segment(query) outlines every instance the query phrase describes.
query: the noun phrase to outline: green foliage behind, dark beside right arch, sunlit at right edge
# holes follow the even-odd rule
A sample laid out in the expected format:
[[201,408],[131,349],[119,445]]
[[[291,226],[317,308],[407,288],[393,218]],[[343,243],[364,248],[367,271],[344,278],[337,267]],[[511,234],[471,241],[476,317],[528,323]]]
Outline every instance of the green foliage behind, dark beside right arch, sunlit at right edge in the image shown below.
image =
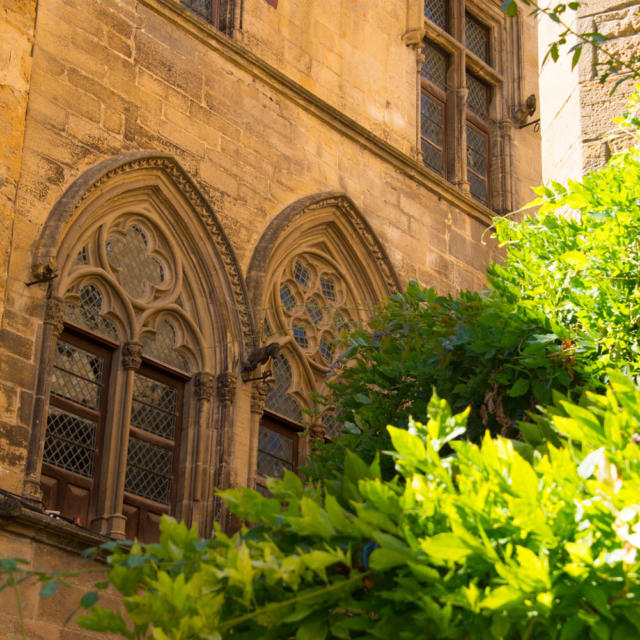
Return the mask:
[[[638,102],[638,96],[634,96]],[[637,104],[621,119],[632,131]],[[554,391],[602,389],[606,369],[640,373],[640,153],[620,154],[568,187],[541,187],[537,214],[495,220],[505,248],[489,290],[438,296],[410,283],[355,331],[329,380],[347,433],[309,464],[339,473],[340,447],[372,460],[387,424],[424,415],[435,388],[455,411],[471,406],[468,435],[514,435],[514,423]],[[363,437],[364,436],[364,437]]]

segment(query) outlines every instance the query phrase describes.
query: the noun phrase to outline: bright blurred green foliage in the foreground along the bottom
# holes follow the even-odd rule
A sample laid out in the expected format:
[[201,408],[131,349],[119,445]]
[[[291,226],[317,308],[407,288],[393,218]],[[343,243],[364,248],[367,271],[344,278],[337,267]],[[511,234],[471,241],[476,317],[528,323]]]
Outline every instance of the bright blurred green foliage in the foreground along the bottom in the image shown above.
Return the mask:
[[349,453],[340,483],[225,492],[255,523],[232,538],[164,517],[159,544],[109,557],[125,614],[79,622],[156,640],[637,637],[639,407],[611,374],[606,395],[538,418],[532,435],[564,446],[527,459],[458,440],[466,412],[434,395],[426,424],[389,427],[393,479]]

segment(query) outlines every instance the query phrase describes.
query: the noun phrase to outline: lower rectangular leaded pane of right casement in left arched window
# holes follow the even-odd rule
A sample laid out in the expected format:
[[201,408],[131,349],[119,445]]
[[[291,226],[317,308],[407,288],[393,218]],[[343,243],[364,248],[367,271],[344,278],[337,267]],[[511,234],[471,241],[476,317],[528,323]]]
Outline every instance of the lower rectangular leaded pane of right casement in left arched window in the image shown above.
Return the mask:
[[169,504],[172,472],[173,451],[134,436],[129,438],[125,491]]

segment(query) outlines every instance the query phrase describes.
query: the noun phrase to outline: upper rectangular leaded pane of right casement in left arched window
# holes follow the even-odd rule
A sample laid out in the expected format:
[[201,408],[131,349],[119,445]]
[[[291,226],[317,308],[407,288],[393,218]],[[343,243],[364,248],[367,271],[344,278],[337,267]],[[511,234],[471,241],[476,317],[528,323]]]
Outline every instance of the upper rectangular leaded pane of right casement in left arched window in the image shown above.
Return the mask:
[[178,390],[136,373],[131,426],[173,440],[178,423]]

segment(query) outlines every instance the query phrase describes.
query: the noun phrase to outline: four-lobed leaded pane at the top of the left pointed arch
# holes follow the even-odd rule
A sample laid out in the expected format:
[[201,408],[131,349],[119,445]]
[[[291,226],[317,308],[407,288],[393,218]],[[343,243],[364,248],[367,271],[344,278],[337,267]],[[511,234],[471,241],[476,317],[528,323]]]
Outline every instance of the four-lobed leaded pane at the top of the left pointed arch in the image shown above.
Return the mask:
[[124,237],[111,236],[107,240],[107,257],[118,269],[122,286],[134,298],[145,293],[145,283],[157,286],[164,280],[164,268],[154,256],[148,255],[149,241],[138,226],[129,228]]

